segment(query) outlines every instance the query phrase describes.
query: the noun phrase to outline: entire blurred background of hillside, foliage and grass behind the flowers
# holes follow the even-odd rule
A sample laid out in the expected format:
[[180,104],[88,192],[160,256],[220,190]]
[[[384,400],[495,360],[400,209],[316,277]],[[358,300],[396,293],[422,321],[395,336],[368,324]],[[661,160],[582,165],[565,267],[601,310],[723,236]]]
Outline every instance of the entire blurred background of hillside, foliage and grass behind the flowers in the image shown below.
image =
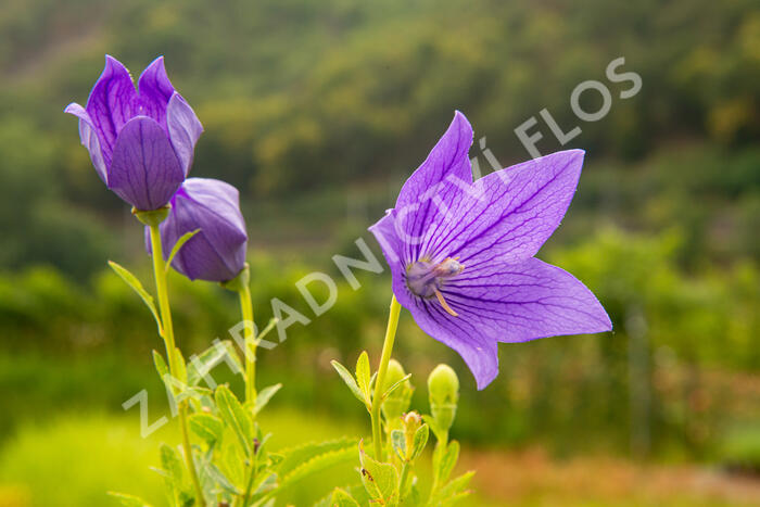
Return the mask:
[[[396,356],[415,406],[427,410],[435,364],[457,369],[453,432],[478,470],[472,505],[760,505],[757,2],[3,0],[0,506],[112,505],[107,490],[160,503],[148,467],[156,442],[176,441],[168,428],[140,439],[138,410],[122,409],[147,389],[150,420],[168,413],[155,326],[105,267],[147,281],[149,262],[62,112],[87,100],[104,53],[135,75],[166,56],[206,129],[193,175],[241,190],[259,325],[273,296],[314,317],[294,282],[341,279],[331,256],[359,256],[359,237],[375,248],[366,227],[455,109],[504,165],[529,157],[514,129],[531,116],[543,153],[584,148],[579,191],[539,256],[583,280],[615,332],[502,345],[498,379],[477,392],[406,315]],[[630,85],[605,77],[620,56],[643,80],[626,100]],[[570,106],[587,79],[613,98],[595,123]],[[544,107],[582,134],[561,147]],[[478,142],[470,155],[487,172]],[[265,419],[278,445],[368,432],[329,366],[363,347],[379,356],[390,280],[359,279],[262,353],[262,384],[286,382]],[[231,294],[169,281],[186,353],[225,338]],[[326,481],[291,500],[308,505]]]

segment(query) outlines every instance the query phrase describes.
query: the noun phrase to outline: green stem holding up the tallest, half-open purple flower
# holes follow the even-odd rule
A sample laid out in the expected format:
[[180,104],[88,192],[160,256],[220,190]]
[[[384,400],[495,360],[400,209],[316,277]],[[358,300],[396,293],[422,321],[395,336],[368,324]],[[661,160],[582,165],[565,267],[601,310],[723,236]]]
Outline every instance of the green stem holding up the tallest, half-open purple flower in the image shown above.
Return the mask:
[[[161,309],[161,327],[164,331],[162,338],[164,339],[164,344],[166,345],[166,357],[169,364],[169,373],[172,377],[177,378],[177,351],[174,340],[174,326],[172,324],[172,309],[169,307],[168,290],[166,288],[166,264],[164,262],[164,252],[163,245],[161,244],[159,224],[151,225],[150,231],[151,251],[153,253],[153,275],[155,276],[155,290],[159,296],[159,308]],[[188,467],[188,471],[190,472],[193,487],[195,489],[195,497],[198,499],[197,505],[203,507],[205,506],[203,490],[201,489],[201,482],[198,480],[195,462],[192,458],[192,446],[190,445],[190,438],[188,435],[186,401],[178,403],[177,411],[179,415],[179,430],[182,436],[182,448],[185,449],[185,462]]]

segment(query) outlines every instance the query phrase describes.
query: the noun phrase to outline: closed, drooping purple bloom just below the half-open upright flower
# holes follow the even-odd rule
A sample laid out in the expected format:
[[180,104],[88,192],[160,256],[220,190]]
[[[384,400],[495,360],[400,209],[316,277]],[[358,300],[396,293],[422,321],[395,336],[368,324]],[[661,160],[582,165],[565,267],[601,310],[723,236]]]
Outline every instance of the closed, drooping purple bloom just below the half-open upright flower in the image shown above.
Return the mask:
[[[245,265],[248,233],[238,190],[218,179],[188,178],[161,223],[164,256],[185,233],[201,229],[185,243],[172,266],[191,280],[228,281]],[[150,250],[148,228],[145,240]]]

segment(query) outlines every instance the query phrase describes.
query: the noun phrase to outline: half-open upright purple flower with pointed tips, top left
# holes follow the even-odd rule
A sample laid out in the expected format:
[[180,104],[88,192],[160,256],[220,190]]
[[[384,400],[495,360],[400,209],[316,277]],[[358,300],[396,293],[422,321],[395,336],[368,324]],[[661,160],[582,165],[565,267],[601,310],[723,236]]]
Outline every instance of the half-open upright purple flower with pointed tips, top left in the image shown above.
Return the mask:
[[172,86],[163,56],[137,86],[106,55],[87,106],[72,103],[65,112],[79,118],[81,143],[105,186],[136,210],[150,211],[166,205],[187,177],[203,127]]

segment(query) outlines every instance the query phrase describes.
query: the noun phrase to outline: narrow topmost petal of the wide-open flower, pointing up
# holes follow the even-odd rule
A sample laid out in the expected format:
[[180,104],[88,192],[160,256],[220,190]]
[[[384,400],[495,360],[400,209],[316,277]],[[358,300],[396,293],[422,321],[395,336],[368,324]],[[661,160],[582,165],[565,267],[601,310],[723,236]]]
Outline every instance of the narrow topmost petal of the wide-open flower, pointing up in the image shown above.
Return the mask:
[[440,221],[447,204],[456,201],[472,182],[467,155],[471,144],[472,127],[457,111],[428,159],[401,189],[395,205],[395,227],[404,240],[403,257],[407,262],[416,259],[428,227]]

